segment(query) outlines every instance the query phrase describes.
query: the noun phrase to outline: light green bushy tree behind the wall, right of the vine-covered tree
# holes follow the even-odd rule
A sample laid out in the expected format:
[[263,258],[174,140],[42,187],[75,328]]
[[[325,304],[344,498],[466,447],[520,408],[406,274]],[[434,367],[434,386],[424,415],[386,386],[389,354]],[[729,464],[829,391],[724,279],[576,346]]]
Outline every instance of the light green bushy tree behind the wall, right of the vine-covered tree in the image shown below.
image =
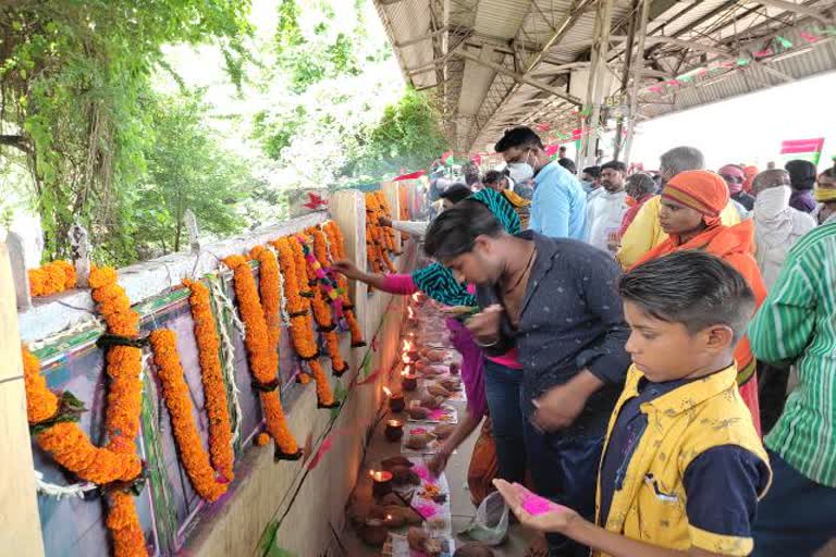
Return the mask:
[[133,202],[137,249],[144,256],[184,246],[187,209],[201,230],[216,235],[244,228],[238,203],[253,185],[249,170],[219,147],[199,97],[155,96],[145,103],[156,140],[144,153],[148,171]]

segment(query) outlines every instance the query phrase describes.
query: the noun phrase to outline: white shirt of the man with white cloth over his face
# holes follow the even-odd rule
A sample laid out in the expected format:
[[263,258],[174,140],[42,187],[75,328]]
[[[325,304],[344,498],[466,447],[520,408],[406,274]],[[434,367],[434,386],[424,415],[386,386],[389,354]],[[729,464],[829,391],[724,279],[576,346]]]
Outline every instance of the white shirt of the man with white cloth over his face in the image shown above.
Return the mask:
[[775,284],[789,248],[815,228],[812,216],[789,207],[791,194],[789,186],[771,187],[754,200],[754,257],[767,290]]

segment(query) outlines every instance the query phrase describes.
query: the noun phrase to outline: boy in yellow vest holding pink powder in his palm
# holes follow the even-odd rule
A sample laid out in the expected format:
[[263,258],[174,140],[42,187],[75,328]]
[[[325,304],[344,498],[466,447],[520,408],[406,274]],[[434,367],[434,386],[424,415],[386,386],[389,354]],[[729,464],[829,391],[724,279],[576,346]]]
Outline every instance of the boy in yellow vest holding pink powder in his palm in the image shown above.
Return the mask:
[[649,261],[619,283],[634,364],[610,419],[597,521],[494,483],[526,525],[613,557],[745,556],[769,458],[741,400],[734,347],[754,310],[743,277],[702,251]]

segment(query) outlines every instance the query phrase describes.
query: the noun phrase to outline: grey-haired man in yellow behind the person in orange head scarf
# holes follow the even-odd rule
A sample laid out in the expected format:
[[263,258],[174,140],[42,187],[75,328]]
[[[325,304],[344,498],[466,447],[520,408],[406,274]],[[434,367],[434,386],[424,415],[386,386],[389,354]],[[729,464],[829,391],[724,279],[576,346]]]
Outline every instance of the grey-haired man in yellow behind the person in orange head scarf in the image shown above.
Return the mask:
[[[705,159],[699,149],[693,147],[676,147],[671,149],[660,158],[662,185],[680,172],[703,170],[704,168]],[[662,203],[659,196],[656,196],[647,201],[636,214],[632,224],[622,236],[622,248],[616,256],[622,268],[631,268],[644,253],[667,239],[667,234],[662,230],[659,222],[661,210]],[[720,219],[726,226],[740,222],[740,215],[732,205],[723,209]]]

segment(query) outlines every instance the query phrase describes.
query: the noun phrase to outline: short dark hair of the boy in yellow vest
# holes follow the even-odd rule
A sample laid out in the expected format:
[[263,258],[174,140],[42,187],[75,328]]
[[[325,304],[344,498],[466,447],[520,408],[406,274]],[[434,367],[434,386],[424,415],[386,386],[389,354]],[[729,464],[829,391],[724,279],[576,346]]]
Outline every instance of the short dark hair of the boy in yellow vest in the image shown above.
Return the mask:
[[704,251],[683,250],[653,259],[622,276],[618,293],[647,314],[681,323],[690,333],[723,324],[734,342],[754,313],[754,294],[732,265]]

